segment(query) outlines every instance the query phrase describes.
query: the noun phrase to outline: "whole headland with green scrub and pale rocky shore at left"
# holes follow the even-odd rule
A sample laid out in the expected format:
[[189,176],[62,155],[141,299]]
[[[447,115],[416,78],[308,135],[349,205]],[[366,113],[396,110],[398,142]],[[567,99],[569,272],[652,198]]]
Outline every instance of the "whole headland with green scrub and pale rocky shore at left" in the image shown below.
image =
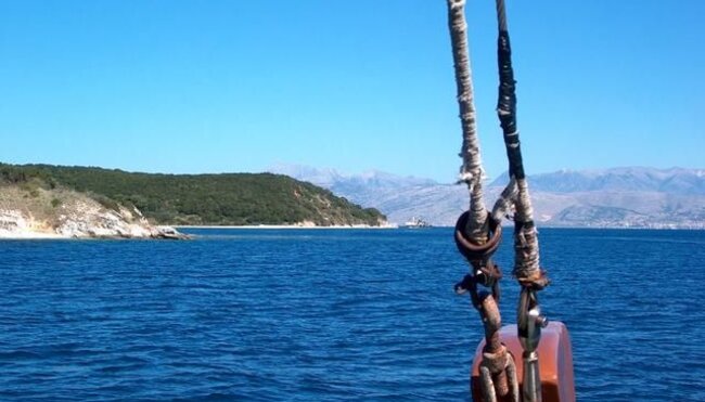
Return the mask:
[[374,208],[281,174],[0,164],[0,237],[170,238],[176,232],[162,225],[385,224]]

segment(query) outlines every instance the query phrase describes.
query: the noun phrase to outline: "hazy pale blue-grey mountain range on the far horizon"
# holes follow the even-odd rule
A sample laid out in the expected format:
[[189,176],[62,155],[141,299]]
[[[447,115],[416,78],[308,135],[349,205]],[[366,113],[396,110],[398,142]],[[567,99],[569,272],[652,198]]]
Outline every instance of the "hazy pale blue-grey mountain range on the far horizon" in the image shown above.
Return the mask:
[[[377,208],[398,224],[421,217],[433,225],[452,225],[467,209],[464,185],[380,171],[344,174],[296,165],[279,165],[270,171]],[[488,205],[493,204],[507,181],[504,173],[487,184]],[[528,181],[535,219],[540,225],[705,229],[705,170],[561,170],[529,176]]]

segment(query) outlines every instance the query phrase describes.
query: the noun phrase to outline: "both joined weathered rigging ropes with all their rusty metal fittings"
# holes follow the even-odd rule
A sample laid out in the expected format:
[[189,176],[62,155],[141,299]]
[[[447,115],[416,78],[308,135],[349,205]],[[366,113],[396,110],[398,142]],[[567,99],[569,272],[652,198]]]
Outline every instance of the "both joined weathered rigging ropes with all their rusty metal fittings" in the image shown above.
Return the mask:
[[[518,402],[516,366],[512,355],[508,353],[507,347],[501,343],[499,337],[501,316],[497,303],[500,297],[499,280],[501,278],[501,272],[499,267],[490,259],[501,239],[500,222],[508,211],[513,208],[515,254],[513,273],[523,286],[521,300],[526,301],[530,297],[535,303],[535,306],[522,306],[520,303],[517,310],[517,334],[525,358],[523,389],[525,400],[528,398],[530,401],[540,401],[540,379],[538,378],[538,361],[535,350],[540,340],[540,327],[544,325],[546,319],[540,315],[536,290],[548,285],[548,278],[539,268],[538,236],[534,225],[534,211],[524,174],[518,130],[516,129],[516,91],[504,0],[496,0],[499,30],[497,59],[500,80],[497,114],[507,147],[510,182],[496,202],[491,213],[485,209],[482,193],[483,170],[467,52],[467,24],[464,16],[465,0],[447,1],[456,83],[458,87],[458,104],[463,130],[463,145],[460,154],[463,158],[463,165],[460,169],[460,180],[467,184],[470,192],[470,209],[461,215],[456,223],[454,238],[459,251],[473,268],[471,274],[465,275],[463,281],[456,285],[456,291],[458,294],[470,291],[473,306],[479,312],[485,326],[486,343],[483,349],[483,361],[479,365],[479,380],[484,400],[495,402],[500,397],[502,400],[511,398],[513,401]],[[479,291],[477,285],[490,287],[491,294]],[[541,323],[538,322],[539,317]],[[530,320],[536,320],[536,323]],[[534,365],[527,366],[527,356],[535,358]],[[531,367],[535,368],[536,376],[534,377],[536,378],[533,377],[527,382],[526,372]],[[538,397],[529,395],[527,390],[539,390]]]

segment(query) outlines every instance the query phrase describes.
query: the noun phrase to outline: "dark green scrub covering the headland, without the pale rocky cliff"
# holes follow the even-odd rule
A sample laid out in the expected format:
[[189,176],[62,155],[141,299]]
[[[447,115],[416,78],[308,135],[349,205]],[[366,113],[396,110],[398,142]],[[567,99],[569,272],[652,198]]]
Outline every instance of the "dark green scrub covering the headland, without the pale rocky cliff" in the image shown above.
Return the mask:
[[162,224],[371,224],[384,216],[313,184],[270,173],[152,174],[86,167],[0,164],[0,183],[64,186],[106,208],[134,206]]

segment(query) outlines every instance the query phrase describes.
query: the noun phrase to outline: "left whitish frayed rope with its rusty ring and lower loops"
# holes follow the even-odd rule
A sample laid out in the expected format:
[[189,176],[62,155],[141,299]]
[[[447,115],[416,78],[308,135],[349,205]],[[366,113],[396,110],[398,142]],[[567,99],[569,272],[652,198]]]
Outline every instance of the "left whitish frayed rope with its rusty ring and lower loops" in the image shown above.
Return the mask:
[[[463,164],[460,168],[460,181],[467,184],[470,192],[470,208],[459,218],[454,237],[458,249],[472,265],[471,274],[465,275],[463,281],[456,285],[456,291],[459,294],[470,291],[473,306],[479,312],[485,326],[486,343],[479,367],[485,400],[493,402],[499,395],[502,400],[509,397],[512,401],[518,402],[516,367],[512,355],[499,337],[501,316],[497,303],[500,297],[501,272],[491,261],[491,255],[499,246],[502,231],[499,225],[500,220],[491,218],[483,199],[483,169],[473,104],[464,5],[465,0],[448,0],[448,23],[463,131],[460,152]],[[505,198],[509,196],[507,195]],[[507,202],[504,210],[509,205],[510,203]],[[477,285],[490,287],[491,294],[479,291]]]

